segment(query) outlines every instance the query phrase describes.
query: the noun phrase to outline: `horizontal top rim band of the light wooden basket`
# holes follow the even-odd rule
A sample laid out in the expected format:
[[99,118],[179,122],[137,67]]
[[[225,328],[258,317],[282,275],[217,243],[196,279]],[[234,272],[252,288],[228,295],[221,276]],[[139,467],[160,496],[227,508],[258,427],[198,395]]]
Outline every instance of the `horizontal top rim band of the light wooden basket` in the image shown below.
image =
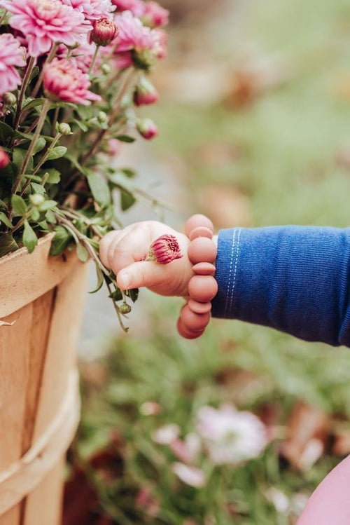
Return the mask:
[[69,273],[72,260],[83,266],[76,252],[50,258],[52,234],[38,241],[32,254],[25,248],[0,259],[0,319],[54,288]]

